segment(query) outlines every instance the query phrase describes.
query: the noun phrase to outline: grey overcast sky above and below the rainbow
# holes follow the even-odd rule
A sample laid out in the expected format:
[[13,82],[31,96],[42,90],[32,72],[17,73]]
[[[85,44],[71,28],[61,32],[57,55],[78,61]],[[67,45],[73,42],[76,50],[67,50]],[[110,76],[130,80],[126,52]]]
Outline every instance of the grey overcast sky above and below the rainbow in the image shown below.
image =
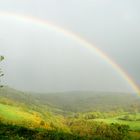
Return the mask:
[[[140,85],[139,0],[0,0],[0,12],[33,16],[79,34]],[[5,82],[22,90],[131,91],[110,65],[82,44],[36,24],[0,16]]]

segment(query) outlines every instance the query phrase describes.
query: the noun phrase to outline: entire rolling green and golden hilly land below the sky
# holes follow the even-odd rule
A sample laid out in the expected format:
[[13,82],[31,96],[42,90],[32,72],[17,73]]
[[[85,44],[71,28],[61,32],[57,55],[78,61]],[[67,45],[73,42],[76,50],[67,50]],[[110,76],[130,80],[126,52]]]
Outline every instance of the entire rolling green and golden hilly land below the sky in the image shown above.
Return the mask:
[[139,103],[137,96],[126,93],[37,94],[4,87],[0,89],[0,127],[4,127],[0,138],[139,139]]

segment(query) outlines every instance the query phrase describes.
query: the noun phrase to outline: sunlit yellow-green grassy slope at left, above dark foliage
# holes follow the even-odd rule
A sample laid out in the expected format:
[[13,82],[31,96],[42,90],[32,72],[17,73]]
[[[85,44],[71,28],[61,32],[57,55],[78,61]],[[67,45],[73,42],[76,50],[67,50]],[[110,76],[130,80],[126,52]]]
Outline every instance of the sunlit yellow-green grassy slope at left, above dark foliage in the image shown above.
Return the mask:
[[42,127],[47,129],[55,127],[69,131],[66,125],[64,125],[65,120],[63,116],[54,115],[52,112],[42,110],[41,108],[39,112],[20,105],[18,107],[0,103],[0,120],[27,127]]

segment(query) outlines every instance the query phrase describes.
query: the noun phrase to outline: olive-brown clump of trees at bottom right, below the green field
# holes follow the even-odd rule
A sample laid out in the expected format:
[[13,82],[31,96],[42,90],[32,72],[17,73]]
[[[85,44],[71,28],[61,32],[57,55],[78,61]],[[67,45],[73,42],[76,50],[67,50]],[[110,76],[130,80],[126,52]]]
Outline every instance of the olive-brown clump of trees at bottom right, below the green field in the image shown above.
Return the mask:
[[130,138],[128,125],[72,120],[69,122],[68,126],[73,134],[88,136],[90,139],[123,140]]

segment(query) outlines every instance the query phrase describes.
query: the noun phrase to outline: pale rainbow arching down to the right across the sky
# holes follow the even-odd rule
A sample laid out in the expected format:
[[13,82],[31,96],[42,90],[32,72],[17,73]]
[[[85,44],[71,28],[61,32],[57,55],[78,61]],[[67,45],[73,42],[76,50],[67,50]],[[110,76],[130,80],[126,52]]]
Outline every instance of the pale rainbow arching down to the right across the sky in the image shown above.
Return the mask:
[[133,90],[138,95],[140,95],[140,89],[138,88],[138,86],[136,85],[134,80],[131,78],[131,76],[129,76],[125,70],[123,70],[105,52],[103,52],[99,48],[95,47],[92,43],[86,41],[84,38],[80,37],[79,35],[71,32],[71,31],[68,31],[64,28],[61,28],[61,27],[59,27],[51,22],[48,22],[46,20],[42,20],[39,18],[31,17],[31,16],[20,15],[17,13],[0,12],[0,17],[9,17],[9,18],[12,18],[12,19],[17,20],[17,21],[37,24],[39,26],[43,26],[43,28],[47,27],[47,28],[51,28],[54,31],[63,33],[65,36],[79,42],[80,44],[82,44],[86,48],[90,49],[91,51],[93,51],[94,53],[99,55],[102,59],[104,59],[108,64],[110,64],[114,68],[114,70],[116,70],[122,76],[123,79],[125,79],[128,82],[128,84],[133,88]]

